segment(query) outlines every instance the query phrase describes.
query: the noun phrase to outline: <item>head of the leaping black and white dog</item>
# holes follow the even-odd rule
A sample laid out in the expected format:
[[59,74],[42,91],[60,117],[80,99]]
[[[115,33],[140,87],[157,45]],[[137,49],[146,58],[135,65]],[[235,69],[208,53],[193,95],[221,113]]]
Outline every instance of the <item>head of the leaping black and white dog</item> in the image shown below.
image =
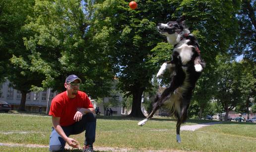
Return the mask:
[[158,23],[158,32],[167,37],[172,45],[179,43],[181,33],[189,34],[190,31],[185,27],[185,16],[178,18],[176,21],[170,21],[167,24]]

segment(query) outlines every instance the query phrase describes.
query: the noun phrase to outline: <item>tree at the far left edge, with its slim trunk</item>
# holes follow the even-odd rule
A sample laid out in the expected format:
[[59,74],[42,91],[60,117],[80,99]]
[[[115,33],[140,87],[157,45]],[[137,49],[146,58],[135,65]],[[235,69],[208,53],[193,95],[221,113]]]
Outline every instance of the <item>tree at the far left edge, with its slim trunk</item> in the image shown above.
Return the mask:
[[[21,4],[22,3],[22,4]],[[32,14],[34,0],[2,0],[0,2],[0,80],[7,77],[10,85],[22,94],[19,110],[25,110],[26,94],[33,86],[41,86],[43,76],[31,71],[26,64],[30,53],[26,50],[23,37],[26,36],[22,28],[26,24],[27,15]],[[22,62],[19,58],[23,58]]]

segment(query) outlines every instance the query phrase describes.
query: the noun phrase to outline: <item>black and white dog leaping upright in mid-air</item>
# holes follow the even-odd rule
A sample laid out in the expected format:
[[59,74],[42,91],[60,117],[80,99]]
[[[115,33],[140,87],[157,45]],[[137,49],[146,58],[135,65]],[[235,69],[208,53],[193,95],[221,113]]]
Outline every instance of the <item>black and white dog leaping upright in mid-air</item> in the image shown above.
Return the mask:
[[139,126],[144,125],[162,105],[166,106],[170,113],[178,119],[176,125],[176,139],[181,143],[180,127],[187,119],[187,112],[192,98],[192,90],[198,80],[205,62],[201,59],[199,45],[195,37],[185,27],[185,17],[167,24],[159,23],[158,31],[167,37],[167,41],[174,45],[172,60],[165,62],[157,77],[162,76],[165,71],[173,73],[170,86],[162,94],[156,95],[152,112],[142,121]]

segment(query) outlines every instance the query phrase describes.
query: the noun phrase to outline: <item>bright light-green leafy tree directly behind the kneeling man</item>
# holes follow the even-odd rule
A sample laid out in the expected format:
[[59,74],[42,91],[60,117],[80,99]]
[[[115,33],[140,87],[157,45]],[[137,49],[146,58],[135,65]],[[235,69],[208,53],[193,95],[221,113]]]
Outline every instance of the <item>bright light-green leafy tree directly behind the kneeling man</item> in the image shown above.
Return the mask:
[[19,63],[29,64],[45,79],[42,87],[64,91],[69,74],[82,79],[80,90],[97,99],[108,95],[114,78],[106,48],[90,32],[95,0],[35,0],[33,14],[28,16],[24,44],[29,60],[15,56]]

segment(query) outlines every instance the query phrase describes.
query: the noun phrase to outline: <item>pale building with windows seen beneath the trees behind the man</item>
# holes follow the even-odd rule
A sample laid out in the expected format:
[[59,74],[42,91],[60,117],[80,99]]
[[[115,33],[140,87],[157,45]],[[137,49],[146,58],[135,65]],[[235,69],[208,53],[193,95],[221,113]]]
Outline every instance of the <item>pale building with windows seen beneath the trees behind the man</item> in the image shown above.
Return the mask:
[[[32,112],[45,112],[47,111],[47,105],[50,108],[52,99],[57,95],[57,92],[52,92],[51,89],[47,89],[41,92],[30,92],[26,95],[25,110]],[[0,101],[6,101],[11,105],[11,110],[18,110],[21,102],[21,92],[13,89],[10,86],[10,82],[6,80],[4,83],[0,84]],[[123,97],[120,93],[115,95],[116,100],[119,102],[123,101]],[[98,104],[95,100],[90,99],[94,107],[99,107],[100,114],[106,115],[106,107],[104,109],[103,104],[109,102],[111,97],[105,97],[103,103]],[[143,101],[143,100],[142,100]],[[130,110],[126,107],[108,107],[113,110],[113,115],[128,115]],[[145,110],[143,109],[143,113]]]

